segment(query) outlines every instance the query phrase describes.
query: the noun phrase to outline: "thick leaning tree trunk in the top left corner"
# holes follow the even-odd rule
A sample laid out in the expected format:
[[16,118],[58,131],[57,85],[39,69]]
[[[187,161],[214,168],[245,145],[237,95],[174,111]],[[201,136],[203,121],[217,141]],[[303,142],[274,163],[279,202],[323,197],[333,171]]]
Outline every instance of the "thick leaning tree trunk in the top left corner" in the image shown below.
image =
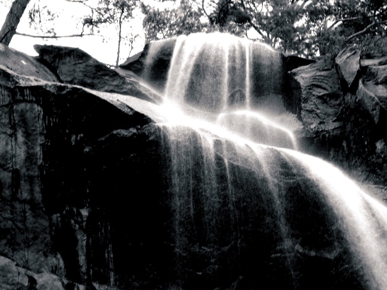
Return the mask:
[[0,30],[0,43],[9,45],[29,0],[15,0]]

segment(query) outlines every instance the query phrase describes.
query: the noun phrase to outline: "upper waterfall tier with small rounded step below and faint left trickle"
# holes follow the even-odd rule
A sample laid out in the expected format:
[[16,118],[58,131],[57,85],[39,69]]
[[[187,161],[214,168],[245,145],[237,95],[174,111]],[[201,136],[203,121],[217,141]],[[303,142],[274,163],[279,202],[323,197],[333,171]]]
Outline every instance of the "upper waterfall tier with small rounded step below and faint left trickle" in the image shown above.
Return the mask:
[[[149,46],[145,79],[170,46],[170,40]],[[295,149],[291,130],[269,120],[284,113],[283,75],[281,54],[263,43],[219,32],[182,35],[174,42],[163,100],[242,138]]]

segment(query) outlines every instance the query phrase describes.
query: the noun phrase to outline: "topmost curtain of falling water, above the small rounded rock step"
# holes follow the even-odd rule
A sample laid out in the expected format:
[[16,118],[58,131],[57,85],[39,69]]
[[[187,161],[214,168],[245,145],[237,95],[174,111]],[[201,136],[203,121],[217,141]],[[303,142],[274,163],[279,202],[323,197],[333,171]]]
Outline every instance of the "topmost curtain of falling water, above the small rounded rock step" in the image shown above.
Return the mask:
[[203,111],[250,109],[281,94],[280,53],[224,33],[179,36],[164,97]]

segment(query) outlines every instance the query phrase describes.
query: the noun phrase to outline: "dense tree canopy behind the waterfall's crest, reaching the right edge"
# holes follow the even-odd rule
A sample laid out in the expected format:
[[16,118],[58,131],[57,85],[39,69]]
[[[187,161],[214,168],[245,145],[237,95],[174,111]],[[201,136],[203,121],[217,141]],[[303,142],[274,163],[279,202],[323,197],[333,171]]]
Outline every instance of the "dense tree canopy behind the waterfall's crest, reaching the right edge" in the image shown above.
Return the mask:
[[[201,3],[200,3],[201,2]],[[143,5],[147,41],[197,31],[227,31],[238,36],[250,29],[286,54],[335,53],[386,33],[386,0],[183,0],[173,10]]]

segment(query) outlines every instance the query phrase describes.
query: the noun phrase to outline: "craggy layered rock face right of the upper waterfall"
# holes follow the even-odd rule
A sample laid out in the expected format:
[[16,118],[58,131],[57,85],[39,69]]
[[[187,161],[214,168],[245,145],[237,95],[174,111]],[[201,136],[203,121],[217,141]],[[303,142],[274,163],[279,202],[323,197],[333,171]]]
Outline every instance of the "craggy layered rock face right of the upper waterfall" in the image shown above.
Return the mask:
[[293,96],[301,97],[302,150],[387,181],[385,63],[350,46],[290,72]]

